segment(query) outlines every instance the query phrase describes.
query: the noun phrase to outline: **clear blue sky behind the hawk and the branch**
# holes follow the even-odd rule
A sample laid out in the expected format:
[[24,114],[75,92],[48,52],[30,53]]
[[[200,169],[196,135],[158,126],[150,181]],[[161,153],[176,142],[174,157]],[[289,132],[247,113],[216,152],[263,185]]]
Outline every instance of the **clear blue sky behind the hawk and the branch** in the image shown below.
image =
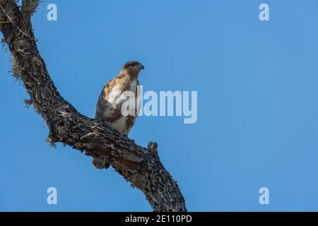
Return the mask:
[[[47,20],[47,4],[58,20]],[[259,4],[270,21],[259,20]],[[157,141],[187,208],[318,210],[318,1],[43,1],[33,17],[61,95],[95,116],[102,86],[129,60],[143,89],[197,90],[198,121],[139,117],[130,137]],[[138,189],[112,168],[45,141],[23,105],[10,54],[0,52],[0,210],[144,210]],[[47,188],[58,204],[47,205]],[[259,204],[259,188],[270,204]]]

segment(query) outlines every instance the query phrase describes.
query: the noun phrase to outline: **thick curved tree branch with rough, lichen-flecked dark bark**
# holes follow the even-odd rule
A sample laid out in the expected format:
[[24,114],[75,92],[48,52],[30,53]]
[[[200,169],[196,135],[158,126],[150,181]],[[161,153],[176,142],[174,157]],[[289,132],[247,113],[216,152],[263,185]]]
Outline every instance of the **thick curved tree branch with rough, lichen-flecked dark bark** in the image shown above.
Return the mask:
[[80,114],[64,100],[37,49],[31,24],[38,0],[0,0],[0,30],[8,45],[13,76],[23,81],[35,110],[45,119],[48,141],[70,145],[89,156],[107,158],[131,186],[141,189],[155,211],[187,211],[177,182],[160,162],[157,144],[148,148],[101,121]]

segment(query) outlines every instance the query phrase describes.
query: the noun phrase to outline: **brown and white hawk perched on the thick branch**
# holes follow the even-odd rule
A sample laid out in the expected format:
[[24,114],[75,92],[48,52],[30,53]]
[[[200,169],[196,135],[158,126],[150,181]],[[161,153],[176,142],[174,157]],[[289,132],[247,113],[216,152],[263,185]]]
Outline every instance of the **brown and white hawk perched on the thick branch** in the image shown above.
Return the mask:
[[[141,93],[137,92],[139,88],[138,76],[143,69],[143,65],[136,61],[129,61],[124,64],[119,75],[102,88],[96,109],[96,119],[110,124],[121,133],[126,135],[129,133],[139,114],[140,105],[136,105],[134,115],[129,114],[128,116],[124,116],[122,114],[122,104],[127,98],[124,95],[124,91],[131,91],[134,93],[134,97],[137,98],[137,93]],[[94,157],[93,166],[97,169],[107,169],[110,167],[107,160],[100,157]]]

